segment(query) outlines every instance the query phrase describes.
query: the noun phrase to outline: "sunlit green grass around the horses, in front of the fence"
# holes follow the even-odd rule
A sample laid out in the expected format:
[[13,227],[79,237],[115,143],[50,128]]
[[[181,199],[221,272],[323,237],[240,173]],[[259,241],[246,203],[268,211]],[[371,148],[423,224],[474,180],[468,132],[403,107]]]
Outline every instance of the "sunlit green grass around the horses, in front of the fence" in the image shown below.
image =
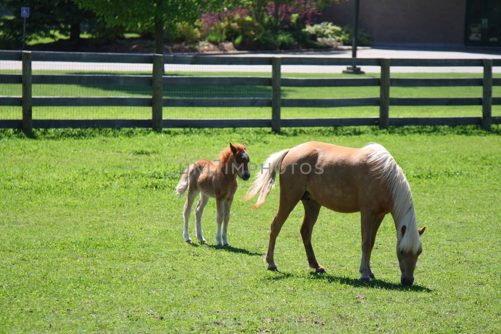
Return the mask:
[[[244,142],[251,162],[319,140],[385,146],[426,226],[401,286],[391,215],[359,283],[360,215],[322,209],[307,266],[301,204],[264,255],[279,189],[250,210],[238,181],[229,247],[182,237],[180,167]],[[0,332],[501,332],[501,127],[0,131]],[[255,174],[256,172],[253,172]],[[253,175],[254,176],[254,175]]]

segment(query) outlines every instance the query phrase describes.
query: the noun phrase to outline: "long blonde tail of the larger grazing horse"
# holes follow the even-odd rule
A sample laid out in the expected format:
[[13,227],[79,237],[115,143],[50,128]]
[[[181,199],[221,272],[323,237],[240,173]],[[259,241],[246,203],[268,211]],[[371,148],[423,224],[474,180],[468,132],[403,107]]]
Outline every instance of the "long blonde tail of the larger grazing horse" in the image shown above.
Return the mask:
[[261,174],[258,174],[258,177],[252,185],[250,185],[249,190],[245,197],[243,197],[244,201],[248,201],[259,194],[258,201],[256,204],[252,206],[253,209],[257,209],[263,204],[266,200],[266,196],[270,193],[270,190],[275,186],[275,178],[277,176],[277,170],[280,168],[282,161],[284,161],[285,156],[289,153],[291,149],[286,149],[277,153],[272,154],[261,166]]

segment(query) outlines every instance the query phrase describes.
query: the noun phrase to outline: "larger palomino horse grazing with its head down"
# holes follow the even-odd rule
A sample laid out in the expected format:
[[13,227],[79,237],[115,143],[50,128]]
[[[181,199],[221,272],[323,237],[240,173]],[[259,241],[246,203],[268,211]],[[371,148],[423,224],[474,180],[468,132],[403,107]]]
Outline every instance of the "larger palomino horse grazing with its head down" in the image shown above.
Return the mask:
[[301,200],[305,208],[301,236],[310,267],[325,272],[315,258],[311,244],[313,226],[322,206],[338,212],[361,213],[361,281],[374,278],[370,258],[376,233],[384,216],[391,213],[397,231],[397,257],[400,282],[411,285],[414,268],[422,251],[412,194],[407,179],[393,157],[379,144],[348,148],[320,142],[308,142],[272,154],[261,175],[249,188],[245,200],[260,192],[254,208],[264,203],[280,175],[280,205],[270,228],[266,254],[269,270],[277,270],[273,259],[275,241],[282,225]]

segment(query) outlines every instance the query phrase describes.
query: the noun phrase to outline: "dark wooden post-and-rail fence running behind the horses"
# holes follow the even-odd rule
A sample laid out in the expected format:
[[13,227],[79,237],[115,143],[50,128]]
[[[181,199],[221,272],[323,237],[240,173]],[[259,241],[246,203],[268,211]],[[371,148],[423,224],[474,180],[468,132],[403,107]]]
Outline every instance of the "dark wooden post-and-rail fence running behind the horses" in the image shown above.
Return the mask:
[[[379,126],[390,125],[465,125],[479,124],[490,130],[491,124],[501,124],[501,117],[491,116],[491,106],[501,104],[501,98],[492,98],[492,86],[501,86],[501,79],[492,79],[492,66],[501,66],[499,60],[472,59],[357,59],[358,66],[379,66],[380,78],[282,78],[282,65],[351,66],[349,58],[299,57],[210,57],[174,55],[134,55],[95,53],[55,53],[29,51],[0,51],[0,61],[22,61],[22,74],[0,74],[0,83],[22,84],[22,96],[0,96],[0,106],[22,106],[22,119],[0,120],[0,128],[123,128],[144,127],[159,130],[177,127],[281,127],[304,126]],[[138,75],[33,75],[32,61],[146,63],[153,64],[151,76]],[[190,65],[271,65],[271,77],[208,77],[162,76],[164,64]],[[482,79],[390,79],[391,66],[419,67],[482,67]],[[32,97],[32,85],[148,85],[151,97]],[[163,98],[163,86],[270,86],[271,98]],[[284,99],[281,87],[361,87],[379,86],[379,98]],[[390,98],[390,87],[482,86],[481,98]],[[0,92],[1,95],[1,92]],[[481,105],[481,117],[427,117],[390,118],[390,106],[464,106]],[[115,120],[52,120],[32,119],[32,107],[38,106],[142,106],[151,107],[151,119]],[[281,118],[281,107],[356,107],[379,106],[379,117],[365,118]],[[166,119],[162,107],[271,107],[270,118],[259,119]]]

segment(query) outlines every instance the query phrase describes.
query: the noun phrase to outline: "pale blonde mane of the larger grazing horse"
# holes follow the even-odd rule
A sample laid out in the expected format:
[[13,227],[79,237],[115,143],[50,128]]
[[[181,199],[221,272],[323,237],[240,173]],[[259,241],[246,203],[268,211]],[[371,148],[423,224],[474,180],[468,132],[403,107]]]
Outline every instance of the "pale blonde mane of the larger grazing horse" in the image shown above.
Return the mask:
[[[369,144],[364,149],[367,150],[367,163],[373,166],[372,172],[392,196],[391,214],[396,223],[397,239],[400,240],[399,250],[416,254],[421,245],[421,238],[417,230],[416,212],[409,183],[402,169],[383,146]],[[401,229],[404,225],[406,229],[402,237]]]

